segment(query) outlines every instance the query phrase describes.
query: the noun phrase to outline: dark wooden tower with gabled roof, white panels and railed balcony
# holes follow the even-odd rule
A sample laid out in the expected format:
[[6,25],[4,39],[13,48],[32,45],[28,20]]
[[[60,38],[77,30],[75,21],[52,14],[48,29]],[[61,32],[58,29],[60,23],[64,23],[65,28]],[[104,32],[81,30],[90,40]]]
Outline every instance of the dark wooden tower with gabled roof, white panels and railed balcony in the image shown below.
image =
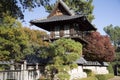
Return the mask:
[[44,38],[46,41],[65,37],[84,44],[87,43],[83,38],[86,32],[96,30],[86,16],[76,14],[62,0],[56,3],[46,19],[36,19],[30,23],[50,32],[50,36]]

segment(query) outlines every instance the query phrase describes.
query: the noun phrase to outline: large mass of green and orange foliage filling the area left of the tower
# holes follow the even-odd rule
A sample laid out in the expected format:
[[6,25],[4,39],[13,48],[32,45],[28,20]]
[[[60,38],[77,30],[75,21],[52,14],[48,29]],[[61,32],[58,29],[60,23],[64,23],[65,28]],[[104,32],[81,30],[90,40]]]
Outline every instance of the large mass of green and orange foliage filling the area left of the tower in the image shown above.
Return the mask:
[[23,28],[18,20],[5,14],[0,23],[0,60],[20,60],[37,53],[40,46],[47,45],[42,41],[45,35],[42,31]]

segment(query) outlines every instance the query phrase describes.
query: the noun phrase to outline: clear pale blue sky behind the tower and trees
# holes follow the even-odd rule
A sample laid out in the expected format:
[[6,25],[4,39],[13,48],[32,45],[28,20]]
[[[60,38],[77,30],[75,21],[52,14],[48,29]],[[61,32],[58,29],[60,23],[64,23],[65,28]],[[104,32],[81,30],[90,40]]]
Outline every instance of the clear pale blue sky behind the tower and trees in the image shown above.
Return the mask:
[[[55,0],[52,0],[55,2]],[[106,35],[103,28],[112,24],[113,26],[120,26],[120,0],[93,0],[94,10],[93,15],[95,19],[92,24],[95,25],[98,32],[102,35]],[[45,18],[49,14],[45,11],[44,7],[33,9],[32,12],[25,11],[23,23],[24,26],[32,29],[40,29],[36,26],[30,26],[30,20]]]

